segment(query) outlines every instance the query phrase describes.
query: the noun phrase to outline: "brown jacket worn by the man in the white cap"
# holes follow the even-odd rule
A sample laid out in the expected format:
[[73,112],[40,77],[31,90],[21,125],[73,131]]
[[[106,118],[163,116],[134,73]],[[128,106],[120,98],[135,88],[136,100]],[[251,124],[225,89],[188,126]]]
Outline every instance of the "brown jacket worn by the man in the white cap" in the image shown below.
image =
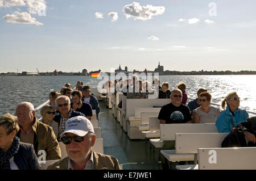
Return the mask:
[[[117,158],[97,153],[93,150],[92,154],[94,170],[121,170]],[[55,163],[52,163],[47,167],[47,170],[68,170],[68,159],[69,157],[65,157]]]

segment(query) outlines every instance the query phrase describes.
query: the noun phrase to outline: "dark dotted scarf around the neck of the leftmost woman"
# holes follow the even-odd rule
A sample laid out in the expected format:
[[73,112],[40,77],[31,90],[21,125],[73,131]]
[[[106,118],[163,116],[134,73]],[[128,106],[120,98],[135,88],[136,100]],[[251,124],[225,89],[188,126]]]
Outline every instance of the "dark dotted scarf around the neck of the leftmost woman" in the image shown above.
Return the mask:
[[6,152],[0,149],[0,170],[11,170],[10,158],[19,150],[19,138],[14,137],[13,144]]

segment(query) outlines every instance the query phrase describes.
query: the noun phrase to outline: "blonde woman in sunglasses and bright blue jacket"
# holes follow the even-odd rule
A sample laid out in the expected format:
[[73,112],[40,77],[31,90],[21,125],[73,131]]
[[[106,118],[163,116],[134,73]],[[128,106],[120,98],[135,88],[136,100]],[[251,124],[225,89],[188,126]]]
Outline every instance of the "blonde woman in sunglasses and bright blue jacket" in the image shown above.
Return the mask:
[[[227,106],[226,106],[227,104]],[[220,113],[216,121],[216,127],[219,133],[229,133],[234,127],[248,119],[246,110],[238,108],[240,106],[240,97],[237,92],[230,92],[221,103],[221,107],[226,110]]]

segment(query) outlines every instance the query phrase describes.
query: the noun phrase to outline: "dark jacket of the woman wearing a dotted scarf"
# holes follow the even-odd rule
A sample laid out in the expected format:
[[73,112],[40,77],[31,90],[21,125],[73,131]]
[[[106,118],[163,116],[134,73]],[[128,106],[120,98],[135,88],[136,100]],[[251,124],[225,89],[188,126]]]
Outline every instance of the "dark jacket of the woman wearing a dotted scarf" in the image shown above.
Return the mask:
[[14,162],[19,170],[41,170],[42,167],[36,157],[34,146],[20,142],[19,150],[14,155]]

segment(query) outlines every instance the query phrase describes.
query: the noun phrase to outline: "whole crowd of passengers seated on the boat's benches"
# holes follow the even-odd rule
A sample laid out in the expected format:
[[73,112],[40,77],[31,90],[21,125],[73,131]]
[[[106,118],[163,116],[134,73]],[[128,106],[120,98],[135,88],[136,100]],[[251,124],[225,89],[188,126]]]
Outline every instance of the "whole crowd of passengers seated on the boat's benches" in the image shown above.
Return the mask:
[[[256,118],[249,118],[246,110],[239,108],[237,92],[225,96],[220,111],[210,105],[212,96],[204,88],[198,89],[197,98],[187,104],[183,82],[170,91],[168,82],[160,85],[159,79],[154,79],[151,85],[133,75],[131,79],[108,81],[103,88],[111,87],[115,93],[123,92],[127,99],[170,99],[170,103],[160,109],[158,119],[161,124],[215,123],[220,133],[239,134],[242,146],[256,146]],[[60,93],[50,92],[49,104],[40,110],[40,121],[32,103],[18,104],[15,115],[6,113],[0,117],[0,170],[41,169],[38,158],[42,150],[47,161],[58,160],[48,169],[120,169],[115,157],[91,149],[96,141],[90,122],[92,110],[96,110],[98,119],[98,100],[90,86],[82,85],[81,81],[74,89],[70,83],[65,83]],[[61,158],[59,142],[65,144],[68,157]],[[230,140],[227,142],[235,145]],[[174,141],[164,142],[163,149],[173,148]]]

